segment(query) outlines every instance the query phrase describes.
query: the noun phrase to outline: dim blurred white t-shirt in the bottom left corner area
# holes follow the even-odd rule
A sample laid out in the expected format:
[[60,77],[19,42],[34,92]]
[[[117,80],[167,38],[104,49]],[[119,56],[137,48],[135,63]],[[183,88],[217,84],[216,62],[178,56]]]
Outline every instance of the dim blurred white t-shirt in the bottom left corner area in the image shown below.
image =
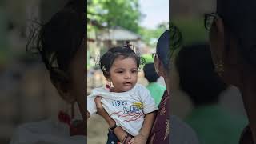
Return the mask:
[[69,127],[62,122],[45,120],[30,122],[15,130],[10,144],[86,144],[86,136],[70,136]]

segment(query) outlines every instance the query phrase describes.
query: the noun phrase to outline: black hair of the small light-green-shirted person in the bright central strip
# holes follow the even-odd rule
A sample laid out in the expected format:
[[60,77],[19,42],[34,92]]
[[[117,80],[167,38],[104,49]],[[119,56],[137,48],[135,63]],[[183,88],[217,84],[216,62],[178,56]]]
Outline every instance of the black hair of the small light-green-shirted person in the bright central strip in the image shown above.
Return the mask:
[[146,63],[143,67],[143,72],[149,82],[156,82],[159,78],[158,74],[155,72],[154,63]]

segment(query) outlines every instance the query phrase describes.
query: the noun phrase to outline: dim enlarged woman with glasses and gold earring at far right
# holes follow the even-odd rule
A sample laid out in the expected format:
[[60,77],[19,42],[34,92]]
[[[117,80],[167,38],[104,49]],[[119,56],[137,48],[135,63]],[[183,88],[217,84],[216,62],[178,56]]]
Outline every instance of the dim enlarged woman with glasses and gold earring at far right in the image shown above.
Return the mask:
[[240,143],[256,143],[256,41],[254,0],[217,0],[214,13],[205,14],[215,71],[227,84],[237,86],[249,124]]

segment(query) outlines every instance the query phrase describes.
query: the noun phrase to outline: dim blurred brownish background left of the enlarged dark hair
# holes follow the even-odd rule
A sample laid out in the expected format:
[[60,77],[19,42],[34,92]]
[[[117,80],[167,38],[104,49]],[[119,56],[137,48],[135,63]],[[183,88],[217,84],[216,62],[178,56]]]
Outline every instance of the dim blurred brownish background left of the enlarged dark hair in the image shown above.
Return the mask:
[[31,30],[67,0],[0,0],[0,143],[25,122],[57,119],[66,103],[37,55],[26,53]]

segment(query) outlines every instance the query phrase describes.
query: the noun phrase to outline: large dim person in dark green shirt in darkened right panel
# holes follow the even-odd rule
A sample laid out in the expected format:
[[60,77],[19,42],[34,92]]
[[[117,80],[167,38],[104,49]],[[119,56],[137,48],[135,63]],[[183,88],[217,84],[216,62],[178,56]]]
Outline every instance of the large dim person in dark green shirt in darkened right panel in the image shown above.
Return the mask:
[[196,131],[200,143],[237,143],[246,120],[219,106],[219,98],[228,86],[214,71],[209,45],[197,43],[182,47],[175,65],[180,89],[194,104],[186,122]]

